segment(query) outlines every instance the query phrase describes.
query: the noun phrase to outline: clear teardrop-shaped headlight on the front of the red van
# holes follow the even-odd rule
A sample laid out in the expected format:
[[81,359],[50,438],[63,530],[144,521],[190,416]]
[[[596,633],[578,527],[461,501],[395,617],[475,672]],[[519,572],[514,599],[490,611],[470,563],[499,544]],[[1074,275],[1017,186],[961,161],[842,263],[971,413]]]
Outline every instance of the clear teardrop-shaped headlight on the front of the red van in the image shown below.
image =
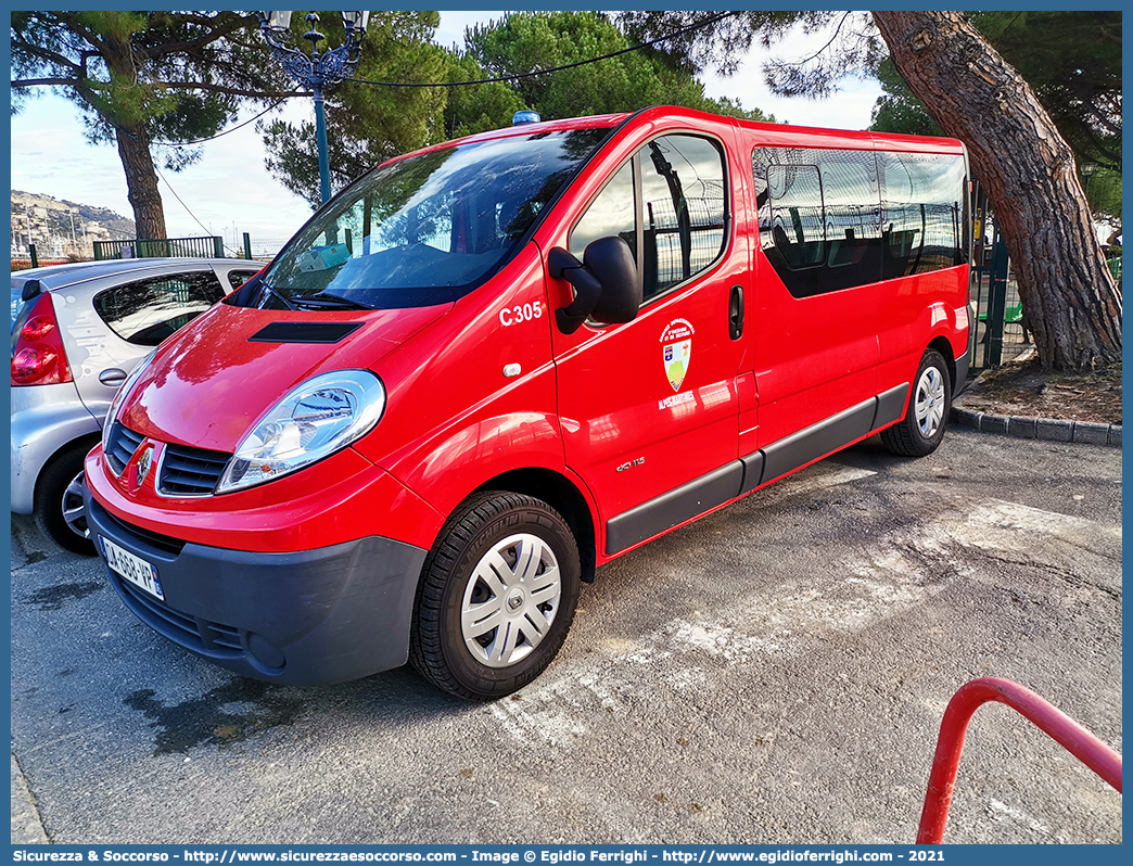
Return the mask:
[[330,457],[369,433],[384,410],[385,388],[367,370],[308,379],[244,438],[216,492],[254,487]]

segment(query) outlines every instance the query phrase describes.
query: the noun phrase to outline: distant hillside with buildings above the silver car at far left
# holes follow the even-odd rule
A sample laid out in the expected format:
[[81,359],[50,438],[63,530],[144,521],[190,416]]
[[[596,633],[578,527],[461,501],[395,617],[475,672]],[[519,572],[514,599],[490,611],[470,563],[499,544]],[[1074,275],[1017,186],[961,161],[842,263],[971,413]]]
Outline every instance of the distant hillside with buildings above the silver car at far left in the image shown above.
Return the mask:
[[135,237],[134,220],[88,204],[11,190],[11,257],[26,258],[35,244],[41,260],[90,260],[95,240]]

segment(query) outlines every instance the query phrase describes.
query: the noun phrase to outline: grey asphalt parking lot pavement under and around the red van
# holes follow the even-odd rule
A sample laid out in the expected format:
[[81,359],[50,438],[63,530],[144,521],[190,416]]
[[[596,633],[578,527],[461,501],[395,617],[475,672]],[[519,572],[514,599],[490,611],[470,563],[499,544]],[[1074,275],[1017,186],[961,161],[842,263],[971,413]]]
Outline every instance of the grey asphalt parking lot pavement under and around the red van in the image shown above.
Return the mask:
[[[246,680],[12,516],[12,841],[905,843],[978,677],[1122,748],[1121,449],[876,439],[599,569],[494,704],[409,669]],[[947,842],[1121,842],[1122,799],[976,715]]]

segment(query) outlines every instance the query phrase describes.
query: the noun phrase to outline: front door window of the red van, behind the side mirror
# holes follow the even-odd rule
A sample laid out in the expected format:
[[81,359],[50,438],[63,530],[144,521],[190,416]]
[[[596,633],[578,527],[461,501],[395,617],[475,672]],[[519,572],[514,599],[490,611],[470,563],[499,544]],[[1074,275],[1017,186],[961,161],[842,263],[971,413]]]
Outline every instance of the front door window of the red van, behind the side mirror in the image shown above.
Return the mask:
[[[636,205],[633,172],[640,177]],[[571,230],[568,248],[619,235],[630,245],[645,303],[710,268],[724,252],[724,158],[693,135],[649,142],[622,165]],[[640,246],[638,248],[638,238]]]

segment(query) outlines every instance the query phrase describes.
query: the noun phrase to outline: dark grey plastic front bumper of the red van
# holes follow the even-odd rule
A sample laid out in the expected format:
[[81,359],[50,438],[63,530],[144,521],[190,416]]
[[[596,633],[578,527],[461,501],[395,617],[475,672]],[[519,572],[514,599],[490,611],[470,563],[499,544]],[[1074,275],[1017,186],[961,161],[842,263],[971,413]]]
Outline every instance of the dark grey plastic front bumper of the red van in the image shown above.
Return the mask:
[[108,569],[126,606],[208,661],[255,679],[314,686],[409,657],[420,547],[368,536],[291,553],[225,550],[131,527],[90,493],[86,508],[95,541],[109,538],[159,571],[164,602]]

